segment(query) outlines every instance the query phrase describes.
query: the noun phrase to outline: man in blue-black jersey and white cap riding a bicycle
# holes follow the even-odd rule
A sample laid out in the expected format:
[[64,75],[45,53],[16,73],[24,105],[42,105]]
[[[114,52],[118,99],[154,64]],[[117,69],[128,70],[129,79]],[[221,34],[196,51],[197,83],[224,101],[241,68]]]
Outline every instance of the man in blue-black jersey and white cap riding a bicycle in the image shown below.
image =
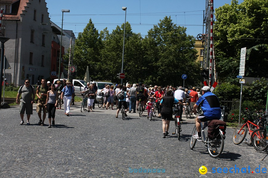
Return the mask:
[[202,141],[201,137],[201,122],[210,120],[219,120],[221,118],[221,108],[219,104],[219,98],[211,93],[208,86],[204,86],[202,89],[202,96],[199,98],[196,104],[194,104],[193,111],[196,114],[196,109],[200,105],[203,111],[202,114],[195,118],[195,125],[197,135],[193,135],[198,141]]

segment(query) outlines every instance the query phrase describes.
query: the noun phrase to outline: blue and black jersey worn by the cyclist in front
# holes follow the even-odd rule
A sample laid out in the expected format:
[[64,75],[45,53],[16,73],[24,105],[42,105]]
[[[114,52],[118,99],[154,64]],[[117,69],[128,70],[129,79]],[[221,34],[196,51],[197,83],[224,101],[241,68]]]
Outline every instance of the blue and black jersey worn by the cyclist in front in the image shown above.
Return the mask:
[[219,104],[219,98],[213,93],[206,92],[202,95],[196,104],[201,105],[201,109],[204,112],[205,117],[208,119],[220,119],[221,118],[221,108]]

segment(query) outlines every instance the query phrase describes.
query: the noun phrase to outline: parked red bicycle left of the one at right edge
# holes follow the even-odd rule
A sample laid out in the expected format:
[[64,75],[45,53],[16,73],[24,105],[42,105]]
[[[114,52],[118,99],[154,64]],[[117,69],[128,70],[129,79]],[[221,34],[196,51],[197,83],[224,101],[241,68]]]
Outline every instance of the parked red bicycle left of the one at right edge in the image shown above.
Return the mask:
[[[259,129],[259,123],[260,121],[257,123],[257,120],[254,120],[252,118],[252,114],[251,112],[249,112],[249,110],[246,108],[246,110],[248,111],[248,114],[245,113],[244,114],[248,116],[248,120],[246,123],[244,124],[240,124],[236,127],[236,129],[233,132],[233,143],[234,144],[241,144],[243,142],[243,140],[245,139],[245,137],[247,136],[247,133],[249,132],[250,136],[252,135],[252,132],[255,129]],[[253,122],[249,121],[249,120],[253,120]]]

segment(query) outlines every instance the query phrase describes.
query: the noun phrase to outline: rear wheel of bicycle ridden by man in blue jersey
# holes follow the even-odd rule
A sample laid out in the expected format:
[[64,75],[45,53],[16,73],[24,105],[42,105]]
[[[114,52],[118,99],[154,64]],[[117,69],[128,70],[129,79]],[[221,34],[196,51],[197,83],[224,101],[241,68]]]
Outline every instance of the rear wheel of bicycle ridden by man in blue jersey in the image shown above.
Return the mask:
[[211,140],[208,137],[206,138],[206,143],[208,146],[208,153],[212,158],[218,158],[222,153],[224,147],[224,139],[222,133],[219,131],[215,139]]

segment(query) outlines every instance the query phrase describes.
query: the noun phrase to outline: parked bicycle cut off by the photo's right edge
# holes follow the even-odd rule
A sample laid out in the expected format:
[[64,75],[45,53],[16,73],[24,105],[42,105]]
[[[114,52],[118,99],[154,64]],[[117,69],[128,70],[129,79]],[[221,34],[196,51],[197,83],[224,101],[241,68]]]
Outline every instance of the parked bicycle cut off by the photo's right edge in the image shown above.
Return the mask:
[[264,123],[264,127],[256,129],[251,134],[251,143],[253,147],[262,153],[268,152],[268,120],[267,115],[263,115],[260,118],[261,122]]

